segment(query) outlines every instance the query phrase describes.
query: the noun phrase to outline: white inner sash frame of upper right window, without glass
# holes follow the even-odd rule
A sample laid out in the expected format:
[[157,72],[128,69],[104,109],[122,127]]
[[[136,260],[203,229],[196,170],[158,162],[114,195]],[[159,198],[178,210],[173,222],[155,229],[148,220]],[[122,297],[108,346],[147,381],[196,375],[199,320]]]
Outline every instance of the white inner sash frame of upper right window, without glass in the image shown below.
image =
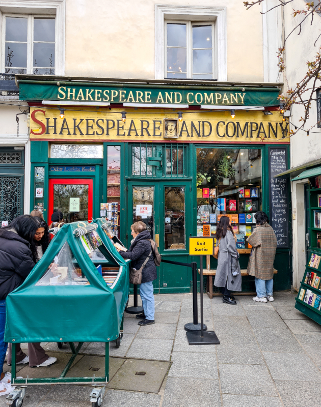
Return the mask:
[[[165,66],[164,77],[166,78],[167,72],[167,24],[186,24],[186,79],[193,78],[193,25],[211,25],[212,27],[212,78],[217,79],[216,65],[215,65],[215,23],[213,21],[182,21],[182,20],[166,20],[165,21]],[[171,48],[169,46],[169,48]],[[172,48],[184,48],[184,47],[172,47]],[[199,48],[196,48],[199,49]],[[199,75],[199,74],[198,74]],[[204,75],[208,75],[205,74]],[[175,78],[173,78],[175,79]],[[180,78],[177,78],[180,79]],[[200,77],[200,79],[203,79]]]

